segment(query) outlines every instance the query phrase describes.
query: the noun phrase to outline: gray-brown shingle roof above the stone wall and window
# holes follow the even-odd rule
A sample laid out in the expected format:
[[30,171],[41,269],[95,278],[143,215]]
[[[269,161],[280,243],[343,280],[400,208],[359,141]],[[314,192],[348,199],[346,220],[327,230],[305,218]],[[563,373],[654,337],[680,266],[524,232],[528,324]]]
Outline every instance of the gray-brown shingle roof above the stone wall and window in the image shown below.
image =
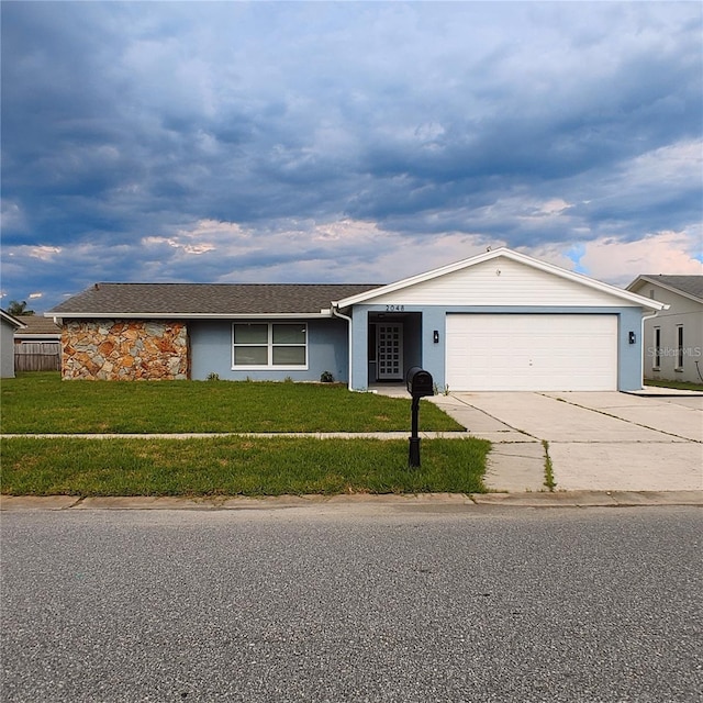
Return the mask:
[[71,315],[320,314],[371,283],[96,283],[49,310]]

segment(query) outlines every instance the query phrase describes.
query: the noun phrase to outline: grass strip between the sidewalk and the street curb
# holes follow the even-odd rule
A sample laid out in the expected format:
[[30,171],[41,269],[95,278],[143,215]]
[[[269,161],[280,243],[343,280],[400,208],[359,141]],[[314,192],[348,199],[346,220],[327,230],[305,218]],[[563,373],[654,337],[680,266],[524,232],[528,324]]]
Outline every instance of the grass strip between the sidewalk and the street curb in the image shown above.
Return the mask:
[[2,438],[2,493],[11,495],[282,495],[476,493],[490,443],[313,437],[198,439]]

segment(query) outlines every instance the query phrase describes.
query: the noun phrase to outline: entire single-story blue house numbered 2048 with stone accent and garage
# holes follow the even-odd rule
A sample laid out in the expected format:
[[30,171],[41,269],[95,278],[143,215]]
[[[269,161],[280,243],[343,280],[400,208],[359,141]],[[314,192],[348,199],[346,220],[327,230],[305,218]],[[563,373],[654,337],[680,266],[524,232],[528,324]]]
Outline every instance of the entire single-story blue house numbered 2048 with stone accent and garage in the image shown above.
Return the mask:
[[46,313],[64,378],[290,378],[366,390],[641,388],[663,303],[500,248],[388,286],[98,283]]

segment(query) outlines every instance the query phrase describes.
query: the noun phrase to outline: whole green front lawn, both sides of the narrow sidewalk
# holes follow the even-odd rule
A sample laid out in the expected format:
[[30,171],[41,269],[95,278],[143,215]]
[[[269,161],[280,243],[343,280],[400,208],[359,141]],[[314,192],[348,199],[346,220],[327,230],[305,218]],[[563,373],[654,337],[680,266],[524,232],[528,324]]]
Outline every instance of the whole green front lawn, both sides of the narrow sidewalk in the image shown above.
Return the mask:
[[[2,381],[3,434],[391,432],[410,434],[410,398],[334,384],[227,381]],[[462,429],[423,402],[423,431]],[[490,443],[424,439],[408,468],[406,440],[313,437],[188,439],[3,437],[2,493],[13,495],[281,495],[471,493]]]

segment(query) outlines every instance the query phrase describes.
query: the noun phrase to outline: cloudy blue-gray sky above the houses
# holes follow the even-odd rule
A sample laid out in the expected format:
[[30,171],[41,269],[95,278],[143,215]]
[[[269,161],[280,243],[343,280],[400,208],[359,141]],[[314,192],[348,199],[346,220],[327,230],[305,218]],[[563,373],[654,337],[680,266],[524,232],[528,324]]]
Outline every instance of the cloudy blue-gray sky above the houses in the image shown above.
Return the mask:
[[2,305],[390,282],[506,245],[703,272],[699,2],[12,2]]

